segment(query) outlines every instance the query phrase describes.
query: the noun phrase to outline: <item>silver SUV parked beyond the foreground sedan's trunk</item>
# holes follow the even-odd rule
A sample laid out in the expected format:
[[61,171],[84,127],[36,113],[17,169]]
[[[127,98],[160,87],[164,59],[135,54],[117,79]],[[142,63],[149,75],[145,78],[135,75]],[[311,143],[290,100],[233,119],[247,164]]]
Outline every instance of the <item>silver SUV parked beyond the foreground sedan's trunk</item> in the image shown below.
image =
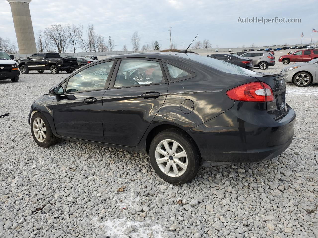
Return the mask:
[[254,67],[259,67],[259,69],[267,69],[268,66],[275,65],[275,56],[270,52],[246,52],[241,56],[252,59]]

